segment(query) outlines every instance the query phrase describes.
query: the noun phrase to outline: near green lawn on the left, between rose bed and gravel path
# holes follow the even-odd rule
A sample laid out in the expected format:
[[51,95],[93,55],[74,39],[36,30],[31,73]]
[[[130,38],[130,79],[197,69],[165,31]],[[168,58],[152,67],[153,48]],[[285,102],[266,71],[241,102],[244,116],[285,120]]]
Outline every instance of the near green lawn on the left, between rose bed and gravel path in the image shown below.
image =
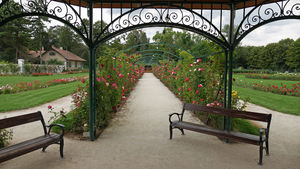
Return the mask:
[[0,112],[26,109],[70,95],[81,82],[55,85],[48,88],[0,95]]

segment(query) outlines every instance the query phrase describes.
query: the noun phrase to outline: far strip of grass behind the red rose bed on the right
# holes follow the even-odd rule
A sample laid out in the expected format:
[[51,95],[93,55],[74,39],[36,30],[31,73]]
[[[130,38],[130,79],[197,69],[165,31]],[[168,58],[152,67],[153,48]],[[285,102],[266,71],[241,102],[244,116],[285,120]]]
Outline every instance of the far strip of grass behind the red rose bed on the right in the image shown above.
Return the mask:
[[[263,84],[264,86],[281,86],[286,85],[288,88],[294,87],[293,84],[300,83],[300,81],[286,81],[286,80],[273,80],[273,79],[250,79],[250,78],[245,78],[245,75],[243,74],[235,74],[233,76],[235,78],[235,82],[233,82],[233,85],[235,83],[237,84],[246,84],[243,86],[252,86],[253,83],[257,84]],[[240,86],[240,85],[239,85]]]

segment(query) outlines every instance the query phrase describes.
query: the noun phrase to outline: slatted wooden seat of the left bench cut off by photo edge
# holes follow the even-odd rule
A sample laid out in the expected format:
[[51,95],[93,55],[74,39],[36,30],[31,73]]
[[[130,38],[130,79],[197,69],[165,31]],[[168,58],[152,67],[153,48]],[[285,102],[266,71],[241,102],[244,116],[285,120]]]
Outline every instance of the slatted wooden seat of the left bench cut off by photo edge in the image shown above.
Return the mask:
[[28,152],[43,148],[58,141],[60,141],[60,135],[50,134],[2,148],[0,149],[0,163],[26,154]]

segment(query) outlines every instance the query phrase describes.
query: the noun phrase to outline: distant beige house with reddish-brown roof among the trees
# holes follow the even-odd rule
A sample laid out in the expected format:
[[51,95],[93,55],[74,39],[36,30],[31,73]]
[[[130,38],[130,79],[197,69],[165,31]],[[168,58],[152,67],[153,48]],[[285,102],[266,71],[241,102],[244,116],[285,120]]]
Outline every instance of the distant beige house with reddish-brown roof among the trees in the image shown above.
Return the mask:
[[[40,61],[40,51],[28,51],[28,54],[31,58],[36,60],[37,62]],[[74,53],[63,50],[62,48],[56,48],[54,45],[51,46],[50,50],[45,51],[42,49],[41,51],[41,60],[47,64],[50,60],[56,60],[59,62],[64,63],[66,68],[68,70],[73,69],[82,69],[84,62],[86,62],[85,59],[82,59],[81,57],[75,55]]]

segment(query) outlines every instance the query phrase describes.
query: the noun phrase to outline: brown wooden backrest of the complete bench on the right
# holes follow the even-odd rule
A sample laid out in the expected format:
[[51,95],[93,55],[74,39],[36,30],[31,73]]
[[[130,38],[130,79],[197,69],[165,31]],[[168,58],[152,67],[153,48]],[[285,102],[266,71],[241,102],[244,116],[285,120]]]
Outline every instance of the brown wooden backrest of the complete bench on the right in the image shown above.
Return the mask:
[[233,117],[233,118],[256,120],[256,121],[262,121],[262,122],[267,122],[267,123],[270,123],[271,118],[272,118],[272,114],[207,107],[207,106],[201,106],[201,105],[190,104],[190,103],[184,104],[183,112],[184,112],[184,110],[205,112],[205,113],[210,113],[210,114],[229,116],[229,117]]

